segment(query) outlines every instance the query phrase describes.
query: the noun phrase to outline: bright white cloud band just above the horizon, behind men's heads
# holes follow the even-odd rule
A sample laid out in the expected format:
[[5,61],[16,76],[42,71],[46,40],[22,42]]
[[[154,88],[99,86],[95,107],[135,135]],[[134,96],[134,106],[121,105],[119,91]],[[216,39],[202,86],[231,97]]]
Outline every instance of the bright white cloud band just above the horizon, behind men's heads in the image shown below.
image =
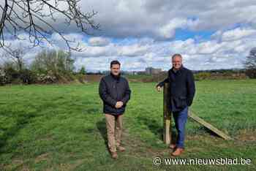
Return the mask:
[[[143,70],[147,66],[167,70],[170,69],[170,56],[173,53],[181,53],[184,56],[184,65],[189,69],[241,68],[249,50],[256,47],[256,39],[249,37],[229,42],[217,42],[216,40],[196,42],[194,39],[154,43],[149,41],[148,44],[143,42],[143,45],[140,45],[139,42],[134,42],[132,45],[110,43],[111,46],[102,47],[105,52],[108,52],[98,54],[100,61],[105,66],[103,70],[108,69],[110,59],[121,61],[121,68],[124,70]],[[140,51],[140,49],[142,50]],[[81,53],[80,57],[91,59],[91,56],[86,53]],[[99,61],[99,58],[96,57],[94,56],[95,60]],[[102,68],[103,64],[99,68]],[[88,63],[87,69],[92,69],[91,63]]]

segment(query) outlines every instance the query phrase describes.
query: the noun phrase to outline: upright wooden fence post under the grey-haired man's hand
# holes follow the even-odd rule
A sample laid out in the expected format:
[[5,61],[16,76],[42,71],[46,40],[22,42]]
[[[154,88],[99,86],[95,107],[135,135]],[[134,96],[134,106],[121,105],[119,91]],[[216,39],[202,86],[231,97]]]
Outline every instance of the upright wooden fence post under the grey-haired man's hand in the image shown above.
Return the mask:
[[171,141],[171,112],[169,83],[164,86],[164,115],[163,115],[163,140],[169,145]]

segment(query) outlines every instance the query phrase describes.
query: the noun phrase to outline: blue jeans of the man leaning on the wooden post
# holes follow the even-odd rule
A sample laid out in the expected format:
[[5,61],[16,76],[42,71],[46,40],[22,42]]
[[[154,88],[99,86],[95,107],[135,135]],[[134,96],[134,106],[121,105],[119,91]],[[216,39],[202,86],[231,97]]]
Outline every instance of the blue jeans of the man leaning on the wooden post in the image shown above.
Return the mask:
[[178,132],[178,137],[176,141],[176,146],[178,148],[184,148],[184,140],[185,140],[185,126],[187,122],[189,107],[184,108],[179,112],[173,112],[173,118],[175,122],[175,127]]

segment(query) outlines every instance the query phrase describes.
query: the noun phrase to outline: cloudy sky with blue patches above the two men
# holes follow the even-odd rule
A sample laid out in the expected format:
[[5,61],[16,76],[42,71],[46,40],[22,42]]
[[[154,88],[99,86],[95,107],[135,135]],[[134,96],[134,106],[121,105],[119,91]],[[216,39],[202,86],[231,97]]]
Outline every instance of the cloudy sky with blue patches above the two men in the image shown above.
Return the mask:
[[[80,6],[84,12],[98,12],[94,21],[100,30],[93,36],[67,29],[62,18],[55,26],[84,47],[72,56],[77,68],[86,66],[88,71],[107,70],[114,59],[121,61],[123,70],[167,70],[173,53],[181,53],[189,69],[242,68],[249,50],[256,47],[252,0],[83,0]],[[66,48],[58,34],[51,39]]]

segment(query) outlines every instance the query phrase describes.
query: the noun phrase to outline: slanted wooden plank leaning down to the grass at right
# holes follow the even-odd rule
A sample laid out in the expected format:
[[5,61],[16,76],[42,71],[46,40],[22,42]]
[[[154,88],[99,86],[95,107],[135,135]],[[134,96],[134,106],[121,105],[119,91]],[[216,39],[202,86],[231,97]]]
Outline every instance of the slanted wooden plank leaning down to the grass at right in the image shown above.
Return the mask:
[[225,140],[233,140],[233,138],[231,138],[229,135],[225,134],[224,132],[220,131],[216,127],[212,126],[210,123],[204,121],[202,118],[199,118],[197,115],[192,113],[190,110],[189,110],[189,118],[192,118],[193,120],[197,121],[197,123],[200,123],[203,126],[205,126],[206,128],[210,129],[212,132],[219,135],[219,137],[222,137]]

